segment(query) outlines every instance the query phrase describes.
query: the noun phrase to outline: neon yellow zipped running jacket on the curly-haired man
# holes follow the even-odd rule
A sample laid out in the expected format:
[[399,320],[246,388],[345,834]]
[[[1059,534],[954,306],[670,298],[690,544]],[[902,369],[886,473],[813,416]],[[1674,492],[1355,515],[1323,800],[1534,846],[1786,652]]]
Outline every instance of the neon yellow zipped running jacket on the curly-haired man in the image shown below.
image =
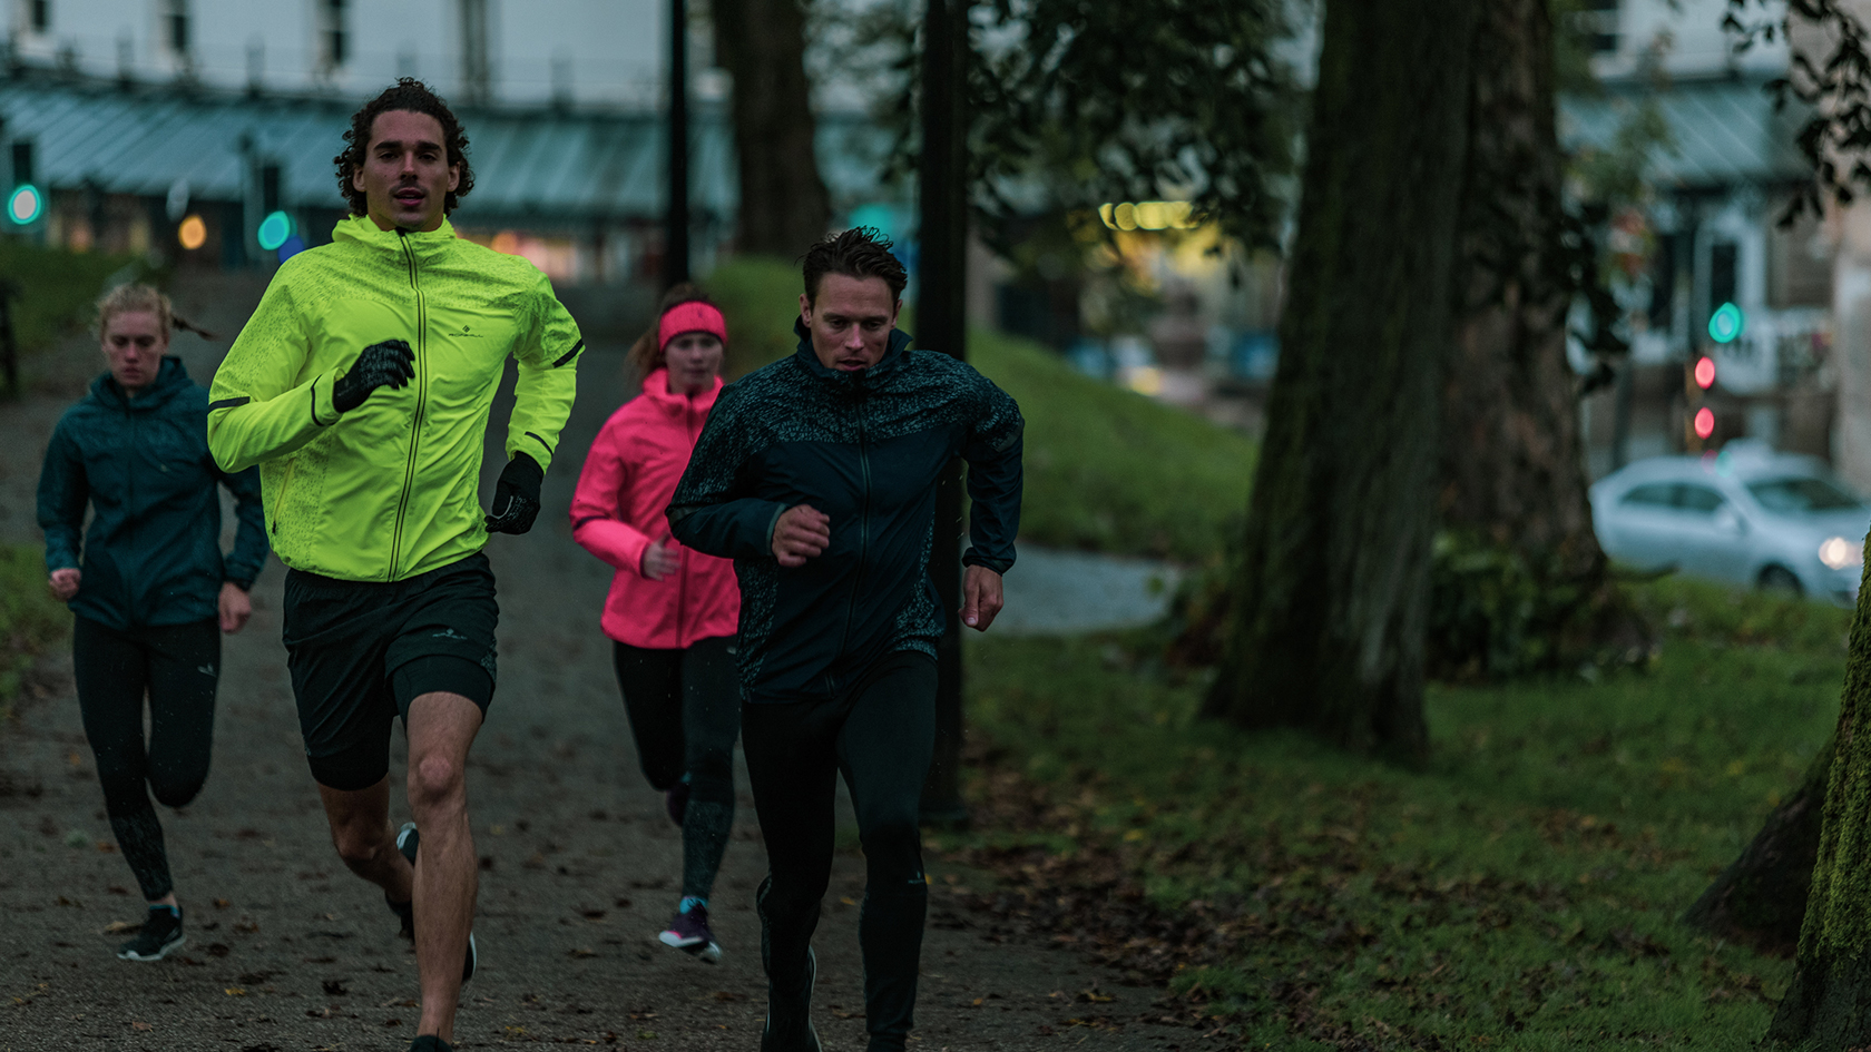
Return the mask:
[[[387,339],[415,380],[339,416],[331,384]],[[367,217],[273,275],[215,373],[208,447],[226,472],[260,464],[279,562],[342,580],[404,580],[481,550],[486,417],[507,356],[520,363],[507,457],[552,464],[571,414],[578,324],[533,264],[455,236]]]

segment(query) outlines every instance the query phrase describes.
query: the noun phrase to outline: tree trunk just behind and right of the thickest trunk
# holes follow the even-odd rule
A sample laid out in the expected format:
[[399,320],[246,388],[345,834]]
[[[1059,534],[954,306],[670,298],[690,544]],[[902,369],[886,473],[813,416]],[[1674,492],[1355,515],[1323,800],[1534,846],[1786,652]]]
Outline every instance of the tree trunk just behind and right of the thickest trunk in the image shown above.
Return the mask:
[[1482,4],[1472,62],[1443,524],[1602,577],[1566,361],[1572,292],[1555,260],[1564,213],[1545,0]]

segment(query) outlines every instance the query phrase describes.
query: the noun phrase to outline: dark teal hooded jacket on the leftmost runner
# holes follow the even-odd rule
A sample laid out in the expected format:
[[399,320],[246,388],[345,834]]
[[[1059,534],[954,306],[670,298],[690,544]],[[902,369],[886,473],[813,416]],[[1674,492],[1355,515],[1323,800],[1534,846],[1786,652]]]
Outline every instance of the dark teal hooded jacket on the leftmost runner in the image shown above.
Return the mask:
[[[228,556],[217,485],[234,494],[239,517]],[[213,618],[221,584],[251,588],[268,552],[260,474],[215,464],[208,391],[180,358],[165,358],[135,399],[105,373],[65,410],[39,472],[39,528],[45,569],[82,571],[71,612],[112,629]]]

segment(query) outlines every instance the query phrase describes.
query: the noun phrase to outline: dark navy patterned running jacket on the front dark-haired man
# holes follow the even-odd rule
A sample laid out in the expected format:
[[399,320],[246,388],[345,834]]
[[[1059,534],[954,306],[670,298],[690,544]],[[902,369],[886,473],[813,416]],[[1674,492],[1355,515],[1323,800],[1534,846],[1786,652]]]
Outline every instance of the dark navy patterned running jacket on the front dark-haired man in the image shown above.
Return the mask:
[[[675,539],[733,560],[741,691],[748,702],[829,698],[877,659],[936,653],[947,618],[930,578],[936,481],[967,460],[967,565],[1007,573],[1020,532],[1020,434],[1005,391],[969,365],[907,350],[892,331],[872,369],[825,369],[799,350],[730,384],[670,502]],[[780,513],[831,517],[803,567],[773,558]]]

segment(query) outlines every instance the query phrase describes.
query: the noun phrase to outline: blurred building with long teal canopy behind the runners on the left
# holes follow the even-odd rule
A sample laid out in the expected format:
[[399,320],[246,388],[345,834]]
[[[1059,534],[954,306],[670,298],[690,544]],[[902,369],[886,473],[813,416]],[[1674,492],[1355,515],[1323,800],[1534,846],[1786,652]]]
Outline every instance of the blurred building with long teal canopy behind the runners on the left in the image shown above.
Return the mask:
[[[660,271],[660,0],[6,4],[0,178],[11,161],[6,185],[32,183],[41,208],[30,223],[0,219],[0,236],[181,268],[277,266],[346,213],[333,155],[350,114],[419,75],[470,137],[462,236],[529,258],[561,288],[640,290]],[[726,75],[707,36],[690,34],[690,251],[703,273],[732,251],[737,208]],[[863,114],[825,112],[818,129],[840,208],[891,197],[876,180],[887,140]]]

